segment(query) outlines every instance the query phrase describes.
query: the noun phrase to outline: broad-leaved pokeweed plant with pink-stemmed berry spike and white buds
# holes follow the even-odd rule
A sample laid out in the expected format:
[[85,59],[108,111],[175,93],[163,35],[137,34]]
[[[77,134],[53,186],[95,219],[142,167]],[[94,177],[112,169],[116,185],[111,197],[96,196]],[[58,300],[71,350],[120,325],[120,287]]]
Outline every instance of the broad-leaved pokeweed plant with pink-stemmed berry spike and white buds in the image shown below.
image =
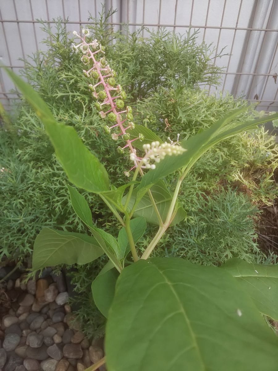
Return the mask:
[[[278,319],[277,266],[234,258],[221,267],[204,267],[150,255],[168,227],[186,218],[178,194],[195,162],[215,144],[278,114],[235,121],[248,109],[243,107],[188,139],[162,142],[150,129],[133,123],[132,108],[125,103],[126,93],[116,82],[104,47],[89,29],[74,35],[80,43],[72,47],[83,54],[83,74],[104,120],[103,130],[118,142],[119,155],[129,154],[126,184],[110,184],[105,167],[75,129],[57,122],[30,85],[7,73],[42,120],[69,181],[101,197],[121,226],[117,239],[97,228],[85,197],[68,185],[72,207],[91,235],[43,228],[34,244],[34,270],[82,265],[104,253],[109,258],[92,283],[95,303],[107,317],[106,359],[91,370],[104,361],[109,371],[276,370],[278,340],[262,315]],[[163,178],[174,172],[172,194]],[[136,243],[146,223],[158,230],[139,256]]]

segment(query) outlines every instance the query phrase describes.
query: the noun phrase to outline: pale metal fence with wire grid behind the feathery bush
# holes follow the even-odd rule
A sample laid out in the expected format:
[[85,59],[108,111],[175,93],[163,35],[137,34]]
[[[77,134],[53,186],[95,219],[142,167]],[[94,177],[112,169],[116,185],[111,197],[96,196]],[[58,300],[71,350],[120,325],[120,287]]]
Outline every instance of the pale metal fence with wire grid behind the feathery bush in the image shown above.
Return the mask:
[[[220,64],[225,71],[218,92],[243,93],[249,101],[260,102],[258,109],[278,110],[277,0],[0,0],[1,62],[18,72],[24,68],[19,56],[26,58],[42,49],[38,19],[52,24],[57,16],[68,17],[71,31],[76,25],[90,24],[88,10],[97,17],[103,2],[107,10],[118,9],[110,18],[117,29],[123,23],[131,31],[142,26],[179,33],[189,27],[199,29],[199,41],[214,43],[215,55],[226,42],[228,55]],[[214,62],[219,66],[221,60]],[[19,95],[9,92],[13,86],[1,72],[0,85],[0,100],[9,107]],[[215,91],[213,86],[206,88]]]

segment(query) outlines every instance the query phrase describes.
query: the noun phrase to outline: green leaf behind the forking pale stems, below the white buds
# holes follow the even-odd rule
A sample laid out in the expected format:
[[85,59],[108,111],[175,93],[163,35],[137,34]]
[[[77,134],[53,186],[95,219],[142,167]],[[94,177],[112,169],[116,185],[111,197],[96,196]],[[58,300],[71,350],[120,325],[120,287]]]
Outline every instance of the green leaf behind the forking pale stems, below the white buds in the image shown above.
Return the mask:
[[[136,209],[134,212],[134,216],[143,216],[146,221],[152,224],[159,225],[158,217],[155,213],[155,210],[153,209],[152,202],[150,200],[149,195],[146,193],[146,187],[145,189],[142,189],[137,187],[134,192],[132,193],[132,196],[130,198],[129,208],[132,209],[134,203],[136,202]],[[141,195],[138,197],[139,192],[143,192],[143,196]],[[158,208],[159,214],[163,221],[165,221],[168,210],[173,198],[172,193],[168,190],[166,187],[166,184],[163,180],[159,180],[155,185],[151,188],[153,198],[155,200],[155,204]],[[171,223],[171,226],[179,223],[181,220],[186,218],[186,211],[182,208],[182,206],[177,204],[176,209],[176,215],[174,220]]]

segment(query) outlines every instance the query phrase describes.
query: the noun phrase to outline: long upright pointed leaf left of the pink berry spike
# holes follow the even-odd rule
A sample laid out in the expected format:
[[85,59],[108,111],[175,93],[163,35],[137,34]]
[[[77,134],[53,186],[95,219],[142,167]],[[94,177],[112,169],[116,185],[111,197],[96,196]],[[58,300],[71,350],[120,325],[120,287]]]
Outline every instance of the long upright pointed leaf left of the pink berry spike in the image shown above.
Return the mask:
[[10,69],[5,69],[24,98],[42,120],[69,180],[79,188],[100,193],[109,190],[109,178],[105,167],[85,147],[74,128],[56,122],[39,94]]

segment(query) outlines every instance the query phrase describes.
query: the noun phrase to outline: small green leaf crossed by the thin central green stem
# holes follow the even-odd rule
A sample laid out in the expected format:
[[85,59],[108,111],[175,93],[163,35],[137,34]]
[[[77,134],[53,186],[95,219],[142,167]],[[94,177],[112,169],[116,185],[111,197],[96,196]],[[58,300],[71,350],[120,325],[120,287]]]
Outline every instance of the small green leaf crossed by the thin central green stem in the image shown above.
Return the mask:
[[[138,242],[140,238],[145,233],[147,224],[143,217],[134,218],[130,220],[130,230],[133,236],[134,243]],[[124,227],[120,229],[118,234],[118,244],[120,246],[120,259],[124,259],[126,255],[130,252],[130,245],[128,242],[128,235]]]

